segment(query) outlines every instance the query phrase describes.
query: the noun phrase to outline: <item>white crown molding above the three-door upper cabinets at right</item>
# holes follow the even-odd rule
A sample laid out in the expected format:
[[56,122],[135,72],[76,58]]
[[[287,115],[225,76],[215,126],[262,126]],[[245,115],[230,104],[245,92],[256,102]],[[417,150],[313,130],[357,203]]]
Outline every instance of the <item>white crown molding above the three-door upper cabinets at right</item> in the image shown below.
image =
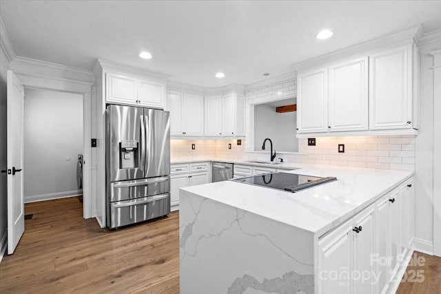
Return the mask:
[[313,59],[308,59],[306,61],[300,61],[292,65],[294,70],[302,70],[307,67],[314,67],[316,65],[322,65],[329,63],[331,61],[336,61],[338,59],[344,59],[345,57],[362,54],[372,50],[380,50],[382,48],[387,48],[392,45],[404,45],[407,43],[416,43],[416,39],[423,38],[422,26],[418,25],[416,27],[407,28],[406,30],[401,30],[399,32],[394,32],[392,34],[387,34],[380,36],[379,38],[359,43],[356,45],[343,48],[341,50],[336,50],[327,54],[316,56]]

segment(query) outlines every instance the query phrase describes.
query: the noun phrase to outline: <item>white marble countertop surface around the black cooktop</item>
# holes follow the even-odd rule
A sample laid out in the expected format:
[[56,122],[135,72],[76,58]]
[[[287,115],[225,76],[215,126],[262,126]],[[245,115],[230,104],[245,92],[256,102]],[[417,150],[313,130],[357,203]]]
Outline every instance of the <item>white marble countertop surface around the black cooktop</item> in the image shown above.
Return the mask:
[[[227,161],[236,163],[234,160]],[[237,163],[243,164],[240,161]],[[272,167],[272,165],[263,166]],[[204,198],[304,229],[319,237],[349,220],[414,174],[413,171],[296,163],[285,164],[284,167],[298,168],[284,171],[291,174],[336,176],[338,180],[297,193],[247,185],[232,180],[183,189]]]

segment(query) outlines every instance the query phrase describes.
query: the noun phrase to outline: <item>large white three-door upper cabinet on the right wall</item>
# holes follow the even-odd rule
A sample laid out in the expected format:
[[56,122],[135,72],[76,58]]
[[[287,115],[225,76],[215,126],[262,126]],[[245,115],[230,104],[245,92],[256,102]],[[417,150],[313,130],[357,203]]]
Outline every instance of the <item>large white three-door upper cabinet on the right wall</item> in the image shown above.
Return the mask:
[[412,43],[300,71],[298,134],[416,134],[419,59]]

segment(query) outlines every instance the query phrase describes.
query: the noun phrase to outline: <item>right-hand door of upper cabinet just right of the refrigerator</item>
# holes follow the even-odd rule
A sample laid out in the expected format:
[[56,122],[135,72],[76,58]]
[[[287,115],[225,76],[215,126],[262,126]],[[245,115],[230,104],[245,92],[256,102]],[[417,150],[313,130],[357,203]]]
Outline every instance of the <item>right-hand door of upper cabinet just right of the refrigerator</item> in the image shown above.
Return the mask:
[[204,135],[204,97],[184,94],[183,132],[185,136]]

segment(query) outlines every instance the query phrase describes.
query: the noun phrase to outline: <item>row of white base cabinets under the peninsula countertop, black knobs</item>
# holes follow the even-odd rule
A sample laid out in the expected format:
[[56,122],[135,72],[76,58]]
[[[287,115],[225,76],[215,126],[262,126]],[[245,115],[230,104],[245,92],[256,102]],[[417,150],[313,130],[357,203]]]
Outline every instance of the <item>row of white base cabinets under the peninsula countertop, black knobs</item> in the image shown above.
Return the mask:
[[413,178],[318,239],[318,293],[391,293],[412,251]]

